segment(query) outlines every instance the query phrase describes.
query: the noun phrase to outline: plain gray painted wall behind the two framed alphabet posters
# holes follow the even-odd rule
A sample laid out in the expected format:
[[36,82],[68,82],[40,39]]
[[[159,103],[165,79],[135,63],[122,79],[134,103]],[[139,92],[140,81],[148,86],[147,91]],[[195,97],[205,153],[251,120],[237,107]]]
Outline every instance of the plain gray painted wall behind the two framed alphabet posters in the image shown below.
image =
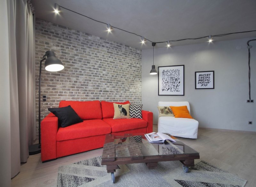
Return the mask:
[[[255,39],[255,38],[251,38]],[[158,101],[188,101],[199,127],[256,131],[256,41],[251,49],[251,99],[248,90],[248,39],[155,49],[154,64],[185,65],[185,96],[158,96],[158,75],[149,75],[153,49],[142,50],[143,109],[158,120]],[[215,89],[195,89],[195,71],[215,71]],[[248,121],[253,121],[248,125]]]

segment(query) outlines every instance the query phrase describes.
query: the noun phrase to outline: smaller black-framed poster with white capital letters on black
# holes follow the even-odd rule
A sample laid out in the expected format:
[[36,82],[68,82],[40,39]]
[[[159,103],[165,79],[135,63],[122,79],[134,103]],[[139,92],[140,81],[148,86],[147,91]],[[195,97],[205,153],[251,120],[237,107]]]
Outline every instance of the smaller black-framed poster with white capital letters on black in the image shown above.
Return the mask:
[[195,72],[196,89],[214,89],[214,71]]

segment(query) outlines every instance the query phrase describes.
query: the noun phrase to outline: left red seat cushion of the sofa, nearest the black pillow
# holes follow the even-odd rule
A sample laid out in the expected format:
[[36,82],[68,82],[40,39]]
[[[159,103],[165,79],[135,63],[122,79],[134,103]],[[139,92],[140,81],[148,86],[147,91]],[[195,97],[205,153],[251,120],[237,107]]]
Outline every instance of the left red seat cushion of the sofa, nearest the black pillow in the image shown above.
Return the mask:
[[101,119],[89,119],[65,128],[60,127],[56,139],[57,141],[63,141],[110,133],[111,126],[108,123]]

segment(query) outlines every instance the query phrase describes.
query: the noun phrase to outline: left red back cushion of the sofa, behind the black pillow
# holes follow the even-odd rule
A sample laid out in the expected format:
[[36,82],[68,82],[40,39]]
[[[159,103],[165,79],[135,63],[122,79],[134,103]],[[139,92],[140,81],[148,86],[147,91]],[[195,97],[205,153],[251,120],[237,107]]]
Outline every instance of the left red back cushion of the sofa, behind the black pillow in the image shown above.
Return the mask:
[[59,107],[70,105],[82,119],[102,119],[100,101],[60,101]]

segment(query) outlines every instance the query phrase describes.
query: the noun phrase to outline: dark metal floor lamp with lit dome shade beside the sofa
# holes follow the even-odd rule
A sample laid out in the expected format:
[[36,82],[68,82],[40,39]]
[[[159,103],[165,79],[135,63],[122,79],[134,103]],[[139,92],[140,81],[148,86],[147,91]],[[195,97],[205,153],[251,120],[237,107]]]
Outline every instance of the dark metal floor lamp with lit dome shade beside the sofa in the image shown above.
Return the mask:
[[60,71],[64,69],[61,61],[56,58],[53,51],[46,51],[43,59],[40,61],[39,69],[39,98],[38,98],[38,138],[39,143],[28,147],[29,155],[41,153],[41,71],[42,62],[44,62],[44,67],[46,71]]

